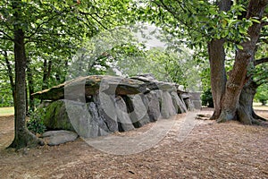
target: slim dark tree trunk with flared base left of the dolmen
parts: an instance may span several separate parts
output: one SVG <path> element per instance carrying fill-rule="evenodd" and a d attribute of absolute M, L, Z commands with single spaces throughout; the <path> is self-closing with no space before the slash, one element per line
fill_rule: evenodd
<path fill-rule="evenodd" d="M 10 145 L 12 148 L 21 149 L 38 145 L 41 141 L 29 132 L 26 127 L 26 54 L 24 32 L 20 27 L 21 2 L 13 2 L 14 18 L 18 24 L 14 25 L 14 55 L 15 55 L 15 138 Z"/>

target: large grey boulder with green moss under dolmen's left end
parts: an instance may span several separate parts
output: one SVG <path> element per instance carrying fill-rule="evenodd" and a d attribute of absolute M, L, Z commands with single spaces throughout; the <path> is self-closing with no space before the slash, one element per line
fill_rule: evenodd
<path fill-rule="evenodd" d="M 97 114 L 96 105 L 61 99 L 45 108 L 44 124 L 50 130 L 68 130 L 82 137 L 96 137 L 109 132 Z"/>

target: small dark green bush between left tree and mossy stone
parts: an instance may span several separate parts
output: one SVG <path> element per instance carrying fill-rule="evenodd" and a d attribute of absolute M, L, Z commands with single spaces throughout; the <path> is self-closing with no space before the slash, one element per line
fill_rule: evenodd
<path fill-rule="evenodd" d="M 45 109 L 39 109 L 35 112 L 30 112 L 29 121 L 27 122 L 27 127 L 30 132 L 33 132 L 35 134 L 42 134 L 46 132 L 46 126 L 43 122 L 45 115 Z"/>

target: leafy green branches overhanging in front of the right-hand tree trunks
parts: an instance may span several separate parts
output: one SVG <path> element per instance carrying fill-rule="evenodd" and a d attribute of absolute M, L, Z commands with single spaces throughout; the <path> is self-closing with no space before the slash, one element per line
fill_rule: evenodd
<path fill-rule="evenodd" d="M 256 21 L 238 18 L 246 5 L 237 3 L 222 12 L 210 1 L 143 1 L 138 6 L 138 14 L 143 14 L 138 20 L 154 23 L 188 47 L 204 47 L 211 39 L 226 38 L 239 49 L 238 44 L 247 39 L 247 29 Z"/>

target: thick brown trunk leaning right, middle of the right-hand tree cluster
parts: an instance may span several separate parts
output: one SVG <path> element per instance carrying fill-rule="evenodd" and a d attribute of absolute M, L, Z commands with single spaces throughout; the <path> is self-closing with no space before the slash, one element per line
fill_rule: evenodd
<path fill-rule="evenodd" d="M 247 8 L 247 19 L 250 17 L 262 19 L 267 4 L 267 0 L 251 0 Z M 249 64 L 253 64 L 256 42 L 260 31 L 261 24 L 255 22 L 248 30 L 250 40 L 240 44 L 243 49 L 237 51 L 233 69 L 226 83 L 225 93 L 222 98 L 222 113 L 218 122 L 238 119 L 244 124 L 252 124 L 252 117 L 239 104 L 239 97 L 244 84 L 247 83 L 247 68 Z"/>

